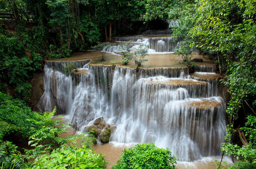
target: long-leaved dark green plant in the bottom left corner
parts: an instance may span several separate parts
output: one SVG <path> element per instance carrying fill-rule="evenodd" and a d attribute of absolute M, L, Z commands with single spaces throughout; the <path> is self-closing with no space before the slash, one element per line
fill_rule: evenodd
<path fill-rule="evenodd" d="M 0 168 L 1 169 L 20 169 L 24 163 L 24 157 L 10 141 L 0 144 Z"/>

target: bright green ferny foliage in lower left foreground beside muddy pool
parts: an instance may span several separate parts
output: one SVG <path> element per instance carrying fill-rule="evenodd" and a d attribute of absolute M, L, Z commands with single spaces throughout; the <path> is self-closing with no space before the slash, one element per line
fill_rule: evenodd
<path fill-rule="evenodd" d="M 26 158 L 35 158 L 34 161 L 28 163 L 27 169 L 48 169 L 48 168 L 105 168 L 106 162 L 104 156 L 96 154 L 89 148 L 94 140 L 92 136 L 85 137 L 85 134 L 71 135 L 61 137 L 60 135 L 68 132 L 67 129 L 72 124 L 60 124 L 59 118 L 53 119 L 56 107 L 52 112 L 45 112 L 43 115 L 37 112 L 35 124 L 41 126 L 40 129 L 34 130 L 29 139 L 29 145 L 34 149 L 26 151 Z M 77 140 L 82 147 L 77 147 Z M 75 146 L 73 146 L 75 145 Z"/>

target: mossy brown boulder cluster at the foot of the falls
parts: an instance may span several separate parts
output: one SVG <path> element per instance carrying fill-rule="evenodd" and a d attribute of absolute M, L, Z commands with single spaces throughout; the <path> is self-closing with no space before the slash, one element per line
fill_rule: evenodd
<path fill-rule="evenodd" d="M 111 133 L 114 132 L 115 129 L 115 125 L 107 124 L 103 117 L 100 117 L 94 121 L 93 125 L 89 126 L 88 131 L 93 134 L 96 139 L 99 137 L 100 141 L 104 144 L 110 141 Z M 94 142 L 94 144 L 96 143 Z"/>

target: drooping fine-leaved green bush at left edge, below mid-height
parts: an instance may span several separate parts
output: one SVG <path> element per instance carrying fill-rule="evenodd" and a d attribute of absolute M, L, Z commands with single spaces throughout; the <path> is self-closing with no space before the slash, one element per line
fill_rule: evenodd
<path fill-rule="evenodd" d="M 35 116 L 24 101 L 12 99 L 0 92 L 0 141 L 12 134 L 28 137 L 31 128 L 35 127 L 28 119 L 35 119 Z"/>

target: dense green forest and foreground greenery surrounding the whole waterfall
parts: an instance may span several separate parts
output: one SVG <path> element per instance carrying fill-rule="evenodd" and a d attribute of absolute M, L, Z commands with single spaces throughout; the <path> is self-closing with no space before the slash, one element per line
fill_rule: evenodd
<path fill-rule="evenodd" d="M 90 148 L 94 133 L 60 137 L 72 124 L 52 120 L 56 109 L 32 111 L 30 81 L 47 59 L 86 52 L 114 36 L 166 29 L 168 19 L 179 25 L 172 37 L 183 42 L 175 53 L 191 66 L 189 55 L 199 50 L 224 75 L 230 97 L 222 157 L 239 159 L 230 168 L 256 168 L 255 0 L 1 0 L 0 13 L 12 14 L 0 17 L 1 169 L 105 168 L 104 156 Z M 148 156 L 152 161 L 143 166 Z M 138 144 L 113 168 L 175 168 L 175 160 L 169 150 Z M 217 167 L 225 167 L 222 159 Z"/>

